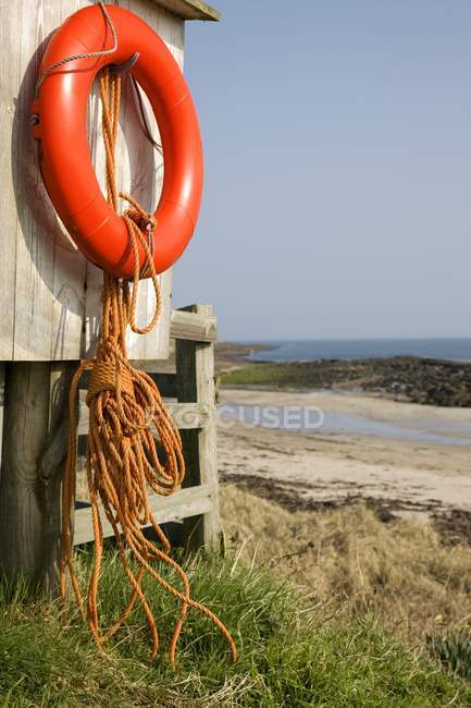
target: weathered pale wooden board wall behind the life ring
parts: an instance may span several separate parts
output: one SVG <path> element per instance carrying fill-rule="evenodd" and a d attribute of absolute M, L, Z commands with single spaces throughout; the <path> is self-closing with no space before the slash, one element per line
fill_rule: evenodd
<path fill-rule="evenodd" d="M 87 4 L 87 0 L 0 0 L 0 361 L 79 359 L 88 355 L 97 338 L 101 271 L 75 251 L 58 221 L 38 173 L 28 122 L 47 39 L 67 15 Z M 181 17 L 150 0 L 120 0 L 120 5 L 153 26 L 183 64 Z M 162 160 L 146 139 L 129 85 L 124 84 L 119 186 L 150 209 L 160 194 Z M 151 115 L 150 123 L 156 129 Z M 102 175 L 96 94 L 90 100 L 89 127 L 97 174 Z M 132 358 L 168 356 L 170 272 L 161 277 L 161 284 L 164 312 L 160 326 L 151 335 L 129 338 Z M 145 321 L 151 309 L 151 289 L 144 283 L 139 319 Z"/>

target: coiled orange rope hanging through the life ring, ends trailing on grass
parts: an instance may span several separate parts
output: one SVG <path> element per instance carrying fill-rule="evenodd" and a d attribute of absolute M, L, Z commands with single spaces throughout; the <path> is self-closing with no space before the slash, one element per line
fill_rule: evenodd
<path fill-rule="evenodd" d="M 107 152 L 108 200 L 116 210 L 114 151 L 120 112 L 120 76 L 110 75 L 108 70 L 103 72 L 100 76 L 100 93 L 103 105 L 102 127 Z M 134 280 L 131 288 L 127 281 L 115 279 L 108 273 L 103 274 L 103 315 L 97 355 L 80 364 L 71 384 L 69 455 L 63 485 L 61 593 L 65 597 L 69 572 L 77 605 L 99 646 L 122 626 L 138 599 L 150 630 L 152 645 L 150 658 L 153 659 L 159 646 L 159 635 L 152 610 L 141 588 L 144 575 L 148 573 L 179 602 L 179 615 L 170 643 L 171 662 L 175 660 L 176 643 L 189 607 L 201 611 L 219 627 L 230 644 L 235 661 L 237 651 L 231 634 L 208 608 L 190 598 L 188 578 L 171 558 L 169 540 L 156 523 L 149 505 L 148 488 L 162 496 L 172 493 L 182 484 L 185 465 L 178 429 L 165 408 L 154 382 L 145 371 L 133 368 L 127 361 L 125 341 L 127 327 L 129 326 L 134 332 L 149 332 L 159 318 L 161 297 L 152 253 L 141 232 L 142 224 L 150 224 L 153 229 L 154 219 L 132 197 L 122 193 L 120 196 L 131 204 L 123 219 L 134 253 Z M 146 254 L 145 266 L 150 272 L 156 291 L 156 312 L 151 321 L 145 327 L 138 327 L 135 319 L 140 277 L 138 243 Z M 95 557 L 85 608 L 73 563 L 72 518 L 76 475 L 76 402 L 78 382 L 86 369 L 89 369 L 86 469 L 91 501 Z M 164 463 L 159 459 L 153 437 L 156 432 L 152 435 L 151 425 L 163 450 Z M 100 628 L 97 601 L 103 552 L 99 503 L 113 528 L 121 562 L 132 587 L 129 600 L 121 617 L 107 632 Z M 145 537 L 142 525 L 152 526 L 160 539 L 161 548 Z M 137 564 L 136 572 L 131 567 L 132 559 Z M 181 589 L 158 573 L 152 564 L 153 561 L 165 563 L 176 573 Z"/>

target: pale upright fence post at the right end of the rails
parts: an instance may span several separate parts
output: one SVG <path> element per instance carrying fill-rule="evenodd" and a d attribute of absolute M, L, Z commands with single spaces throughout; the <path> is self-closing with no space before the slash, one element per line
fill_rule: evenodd
<path fill-rule="evenodd" d="M 210 316 L 210 305 L 190 305 L 186 312 Z M 214 392 L 214 344 L 185 341 L 175 343 L 176 382 L 179 402 L 197 402 L 208 406 L 206 425 L 196 430 L 181 430 L 186 476 L 184 487 L 208 485 L 211 489 L 211 511 L 184 520 L 187 548 L 204 546 L 216 550 L 221 524 L 218 497 L 216 410 Z"/>

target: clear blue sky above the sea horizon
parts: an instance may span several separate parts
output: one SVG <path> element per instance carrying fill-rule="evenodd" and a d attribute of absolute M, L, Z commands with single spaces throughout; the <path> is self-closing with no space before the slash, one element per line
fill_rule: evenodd
<path fill-rule="evenodd" d="M 471 2 L 214 0 L 174 303 L 223 339 L 471 335 Z"/>

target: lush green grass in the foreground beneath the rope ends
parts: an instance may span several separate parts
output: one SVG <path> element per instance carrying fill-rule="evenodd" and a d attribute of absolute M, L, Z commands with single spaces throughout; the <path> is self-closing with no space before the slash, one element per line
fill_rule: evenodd
<path fill-rule="evenodd" d="M 83 570 L 88 557 L 83 554 Z M 187 563 L 188 566 L 188 563 Z M 28 597 L 21 583 L 0 585 L 0 706 L 329 706 L 471 705 L 471 686 L 411 654 L 373 620 L 331 619 L 309 608 L 265 570 L 233 559 L 189 563 L 194 596 L 233 632 L 240 650 L 231 662 L 224 639 L 189 613 L 176 668 L 164 648 L 175 605 L 146 590 L 162 631 L 162 651 L 148 663 L 148 636 L 136 612 L 100 655 L 73 606 Z M 127 597 L 116 557 L 107 552 L 104 622 Z"/>

